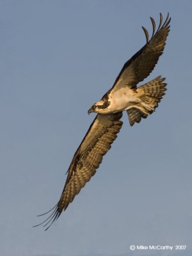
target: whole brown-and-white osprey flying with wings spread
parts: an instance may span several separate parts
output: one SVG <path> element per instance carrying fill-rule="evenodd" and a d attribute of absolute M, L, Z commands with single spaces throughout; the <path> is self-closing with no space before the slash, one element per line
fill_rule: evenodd
<path fill-rule="evenodd" d="M 129 123 L 132 126 L 135 122 L 139 123 L 141 118 L 147 118 L 152 114 L 165 94 L 165 78 L 161 76 L 137 87 L 137 84 L 152 72 L 159 56 L 163 54 L 170 31 L 169 14 L 163 23 L 163 16 L 160 13 L 157 30 L 154 19 L 150 17 L 150 20 L 152 22 L 151 38 L 149 39 L 147 29 L 142 27 L 147 43 L 125 63 L 113 87 L 88 110 L 89 114 L 95 112 L 97 116 L 74 154 L 58 204 L 49 211 L 52 211 L 52 214 L 42 222 L 45 223 L 44 227 L 49 224 L 45 230 L 58 219 L 62 211 L 67 209 L 68 204 L 95 174 L 102 162 L 102 157 L 111 148 L 111 144 L 117 137 L 116 134 L 122 127 L 123 122 L 120 121 L 122 111 L 127 111 Z M 42 215 L 44 214 L 39 216 Z"/>

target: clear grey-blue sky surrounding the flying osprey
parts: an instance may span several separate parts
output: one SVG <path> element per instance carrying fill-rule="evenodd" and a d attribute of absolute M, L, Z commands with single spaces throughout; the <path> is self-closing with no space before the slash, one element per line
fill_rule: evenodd
<path fill-rule="evenodd" d="M 60 198 L 88 109 L 159 12 L 170 12 L 171 31 L 145 80 L 166 77 L 159 108 L 133 127 L 124 113 L 96 175 L 47 232 L 32 228 Z M 191 13 L 191 1 L 0 1 L 1 255 L 191 255 Z"/>

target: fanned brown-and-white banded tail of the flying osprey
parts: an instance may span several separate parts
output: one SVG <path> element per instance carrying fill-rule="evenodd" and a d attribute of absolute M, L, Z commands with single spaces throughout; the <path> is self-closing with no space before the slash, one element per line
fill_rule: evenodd
<path fill-rule="evenodd" d="M 152 81 L 141 85 L 136 89 L 140 102 L 127 110 L 130 125 L 135 122 L 140 123 L 141 118 L 147 118 L 158 107 L 158 103 L 163 98 L 164 92 L 167 90 L 166 83 L 163 83 L 165 78 L 157 76 Z"/>

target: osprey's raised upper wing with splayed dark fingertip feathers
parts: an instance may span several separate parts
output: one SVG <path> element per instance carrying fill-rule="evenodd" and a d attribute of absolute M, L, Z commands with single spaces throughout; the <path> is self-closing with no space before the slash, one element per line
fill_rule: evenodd
<path fill-rule="evenodd" d="M 166 42 L 166 37 L 170 31 L 170 20 L 169 13 L 166 20 L 163 22 L 163 16 L 160 13 L 159 27 L 156 31 L 156 22 L 152 17 L 150 17 L 152 22 L 153 32 L 152 37 L 149 40 L 147 29 L 143 28 L 145 36 L 147 39 L 147 44 L 145 44 L 140 51 L 136 52 L 130 60 L 128 60 L 118 77 L 116 77 L 115 83 L 111 88 L 111 92 L 119 90 L 124 86 L 129 86 L 129 88 L 136 88 L 136 84 L 143 81 L 150 72 L 154 69 L 159 56 L 163 54 L 164 45 Z"/>

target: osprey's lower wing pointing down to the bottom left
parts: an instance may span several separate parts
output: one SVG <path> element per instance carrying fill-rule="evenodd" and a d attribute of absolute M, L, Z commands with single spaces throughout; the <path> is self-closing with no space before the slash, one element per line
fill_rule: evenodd
<path fill-rule="evenodd" d="M 113 115 L 98 114 L 95 120 L 93 120 L 68 168 L 68 176 L 60 201 L 51 209 L 52 214 L 47 220 L 42 222 L 45 223 L 44 227 L 58 219 L 61 212 L 67 209 L 68 204 L 74 200 L 74 197 L 84 187 L 86 182 L 95 174 L 96 169 L 102 162 L 102 156 L 111 148 L 111 143 L 116 139 L 116 134 L 122 127 L 123 122 L 120 121 L 120 118 L 122 118 L 122 112 Z"/>

